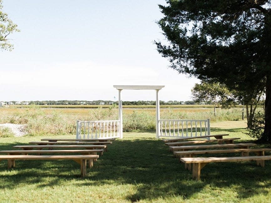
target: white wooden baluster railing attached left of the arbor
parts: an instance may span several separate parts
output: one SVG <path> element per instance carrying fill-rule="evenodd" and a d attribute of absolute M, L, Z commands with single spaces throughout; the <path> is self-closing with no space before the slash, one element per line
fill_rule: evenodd
<path fill-rule="evenodd" d="M 119 120 L 77 120 L 76 139 L 119 138 Z"/>

